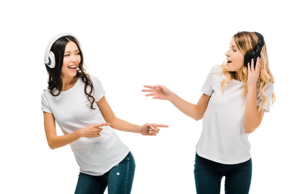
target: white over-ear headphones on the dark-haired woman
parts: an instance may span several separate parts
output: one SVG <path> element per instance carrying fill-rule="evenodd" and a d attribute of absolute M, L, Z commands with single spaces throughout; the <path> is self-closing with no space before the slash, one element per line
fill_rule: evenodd
<path fill-rule="evenodd" d="M 46 52 L 45 52 L 45 64 L 48 65 L 50 68 L 54 68 L 55 67 L 55 55 L 54 53 L 51 51 L 51 48 L 52 48 L 52 45 L 55 43 L 55 41 L 57 41 L 59 38 L 63 37 L 63 36 L 67 36 L 67 35 L 70 35 L 70 36 L 73 36 L 79 46 L 80 46 L 80 42 L 79 40 L 77 39 L 77 37 L 71 33 L 59 33 L 57 35 L 55 35 L 49 42 L 48 46 L 47 46 L 47 49 L 46 49 Z M 80 46 L 81 47 L 81 46 Z M 80 48 L 81 49 L 81 48 Z"/>

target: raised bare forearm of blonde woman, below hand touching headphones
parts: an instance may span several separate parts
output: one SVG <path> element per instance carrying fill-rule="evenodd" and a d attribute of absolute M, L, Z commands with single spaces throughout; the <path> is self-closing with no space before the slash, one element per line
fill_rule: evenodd
<path fill-rule="evenodd" d="M 244 129 L 251 133 L 259 126 L 259 118 L 256 105 L 256 87 L 248 88 L 244 113 Z"/>

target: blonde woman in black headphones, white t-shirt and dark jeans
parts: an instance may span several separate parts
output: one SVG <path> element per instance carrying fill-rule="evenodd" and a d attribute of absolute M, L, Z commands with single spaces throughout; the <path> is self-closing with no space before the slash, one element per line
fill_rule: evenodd
<path fill-rule="evenodd" d="M 146 96 L 169 100 L 196 121 L 203 118 L 196 146 L 194 176 L 197 194 L 248 194 L 252 158 L 248 135 L 258 128 L 274 103 L 274 77 L 266 44 L 258 32 L 237 32 L 225 53 L 227 62 L 207 76 L 197 104 L 186 102 L 163 85 L 144 87 Z"/>

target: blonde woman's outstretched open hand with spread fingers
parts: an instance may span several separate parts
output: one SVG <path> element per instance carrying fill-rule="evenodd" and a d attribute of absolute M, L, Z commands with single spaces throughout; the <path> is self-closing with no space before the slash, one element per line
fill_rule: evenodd
<path fill-rule="evenodd" d="M 167 87 L 164 85 L 144 85 L 144 87 L 149 89 L 143 89 L 142 92 L 151 92 L 146 94 L 146 97 L 154 96 L 153 99 L 162 99 L 162 100 L 169 100 L 171 95 L 173 94 Z"/>

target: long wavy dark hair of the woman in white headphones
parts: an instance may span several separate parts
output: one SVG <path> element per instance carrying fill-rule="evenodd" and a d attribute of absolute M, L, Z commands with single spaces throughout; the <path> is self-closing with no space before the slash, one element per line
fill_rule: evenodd
<path fill-rule="evenodd" d="M 81 51 L 80 45 L 78 44 L 77 40 L 71 35 L 60 37 L 52 45 L 51 51 L 55 54 L 55 67 L 50 68 L 48 65 L 46 65 L 46 69 L 49 76 L 48 89 L 51 90 L 51 94 L 54 97 L 59 96 L 61 94 L 61 89 L 63 86 L 63 81 L 61 79 L 61 71 L 62 71 L 62 66 L 63 66 L 64 52 L 65 52 L 65 47 L 67 43 L 70 41 L 74 42 L 77 45 L 80 52 L 81 60 L 78 66 L 79 69 L 77 70 L 76 76 L 78 78 L 82 78 L 82 81 L 85 82 L 84 93 L 87 95 L 87 98 L 89 102 L 91 103 L 91 109 L 95 109 L 93 108 L 95 98 L 92 96 L 92 92 L 94 93 L 94 88 L 90 80 L 89 74 L 86 73 L 86 70 L 84 69 L 85 65 L 83 63 L 83 53 Z M 90 87 L 89 92 L 87 92 L 88 86 Z M 57 94 L 54 94 L 53 92 L 54 89 L 58 91 Z"/>

